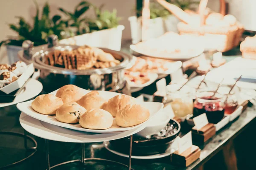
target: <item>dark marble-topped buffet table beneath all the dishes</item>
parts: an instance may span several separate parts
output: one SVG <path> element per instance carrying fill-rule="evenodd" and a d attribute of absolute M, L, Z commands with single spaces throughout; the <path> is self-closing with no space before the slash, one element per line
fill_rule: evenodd
<path fill-rule="evenodd" d="M 128 43 L 124 43 L 124 46 L 122 48 L 123 51 L 128 52 Z M 224 57 L 227 59 L 227 61 L 230 61 L 231 59 L 234 59 L 236 57 L 240 57 L 240 55 L 233 55 L 233 56 L 227 56 Z M 191 71 L 187 71 L 187 74 L 189 74 Z M 168 76 L 169 78 L 169 76 Z M 168 81 L 167 78 L 167 81 Z M 155 89 L 155 83 L 148 86 L 146 90 L 138 91 L 133 94 L 134 97 L 137 97 L 139 94 L 143 93 L 145 94 L 145 91 L 148 91 L 150 89 L 149 93 L 152 95 L 156 89 Z M 19 117 L 20 117 L 20 111 L 17 110 L 15 105 L 3 107 L 0 108 L 0 129 L 2 131 L 12 131 L 12 132 L 20 132 L 23 133 L 23 128 L 20 126 L 19 123 Z M 223 129 L 219 130 L 216 135 L 209 140 L 205 145 L 201 145 L 201 156 L 200 159 L 192 163 L 189 167 L 183 168 L 183 167 L 177 167 L 170 163 L 170 156 L 161 158 L 161 159 L 149 159 L 149 160 L 141 160 L 141 159 L 132 159 L 131 161 L 131 167 L 135 170 L 192 170 L 192 169 L 199 169 L 202 168 L 202 165 L 204 165 L 207 161 L 209 161 L 213 156 L 215 156 L 217 153 L 219 153 L 221 150 L 226 150 L 224 153 L 229 153 L 225 155 L 226 157 L 229 157 L 231 159 L 236 159 L 236 156 L 233 154 L 232 148 L 230 149 L 230 146 L 233 145 L 233 139 L 235 139 L 237 136 L 239 136 L 240 133 L 244 132 L 248 127 L 251 127 L 255 124 L 256 118 L 256 108 L 254 106 L 248 107 L 242 114 L 239 116 L 239 118 L 235 119 L 232 123 L 229 123 L 227 126 L 225 126 Z M 7 123 L 8 122 L 8 123 Z M 180 137 L 186 134 L 190 129 L 182 128 Z M 11 170 L 20 170 L 20 169 L 38 169 L 38 170 L 44 170 L 46 169 L 46 159 L 45 159 L 45 146 L 44 146 L 44 139 L 38 138 L 36 136 L 33 136 L 35 140 L 38 143 L 38 151 L 29 158 L 28 160 L 22 162 L 18 166 L 13 166 L 10 169 Z M 12 142 L 13 140 L 17 141 L 15 144 L 10 146 L 9 142 Z M 5 153 L 4 156 L 2 156 L 0 159 L 1 164 L 0 167 L 2 167 L 6 162 L 8 161 L 12 162 L 10 158 L 12 159 L 22 159 L 22 157 L 27 156 L 29 154 L 29 150 L 25 150 L 23 148 L 23 138 L 19 137 L 13 137 L 12 139 L 5 139 L 5 137 L 1 137 L 1 153 Z M 246 140 L 246 139 L 244 139 Z M 30 141 L 28 145 L 33 146 L 32 142 Z M 50 147 L 50 165 L 59 164 L 64 161 L 69 161 L 71 159 L 80 159 L 81 155 L 81 144 L 75 144 L 75 143 L 63 143 L 63 142 L 54 142 L 49 141 L 49 147 Z M 129 147 L 129 146 L 124 146 Z M 8 152 L 8 150 L 15 150 L 15 148 L 20 148 L 20 154 L 15 158 L 13 158 L 13 155 L 15 152 Z M 227 151 L 228 150 L 228 151 Z M 231 151 L 230 151 L 231 150 Z M 16 154 L 15 154 L 16 155 Z M 90 143 L 85 144 L 85 158 L 102 158 L 102 159 L 109 159 L 113 161 L 118 161 L 123 164 L 128 164 L 128 158 L 124 158 L 121 156 L 117 156 L 111 152 L 109 152 L 107 149 L 105 149 L 102 142 L 98 143 Z M 236 160 L 235 160 L 236 161 Z M 225 160 L 227 166 L 229 160 Z M 75 164 L 75 163 L 74 163 Z M 234 161 L 231 164 L 236 164 Z M 85 167 L 88 169 L 95 169 L 95 166 L 97 166 L 98 169 L 100 169 L 102 166 L 106 167 L 105 163 L 100 162 L 90 162 L 86 164 Z M 128 169 L 126 167 L 118 167 L 116 164 L 108 164 L 106 169 Z M 72 164 L 64 165 L 65 168 L 68 169 L 68 167 L 71 167 Z M 64 166 L 56 167 L 55 169 L 61 169 L 64 168 Z M 65 169 L 64 168 L 64 169 Z M 102 167 L 103 168 L 103 167 Z"/>

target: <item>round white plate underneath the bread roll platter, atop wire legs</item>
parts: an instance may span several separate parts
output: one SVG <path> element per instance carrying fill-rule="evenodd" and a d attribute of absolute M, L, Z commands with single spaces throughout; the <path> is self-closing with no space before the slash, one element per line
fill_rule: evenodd
<path fill-rule="evenodd" d="M 90 133 L 55 126 L 46 122 L 42 122 L 38 119 L 32 118 L 26 115 L 25 113 L 20 114 L 20 125 L 27 132 L 40 138 L 52 141 L 73 143 L 92 143 L 121 139 L 139 132 L 146 126 L 142 125 L 133 130 L 128 130 L 119 133 Z"/>

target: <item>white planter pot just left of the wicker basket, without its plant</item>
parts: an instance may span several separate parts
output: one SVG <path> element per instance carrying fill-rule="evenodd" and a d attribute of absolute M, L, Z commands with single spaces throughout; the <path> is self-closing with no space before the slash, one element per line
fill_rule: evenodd
<path fill-rule="evenodd" d="M 131 39 L 132 43 L 136 44 L 141 41 L 141 29 L 142 29 L 142 18 L 137 18 L 136 16 L 129 17 L 131 26 Z M 178 32 L 177 23 L 179 20 L 174 15 L 169 15 L 166 18 L 157 17 L 150 19 L 149 31 L 150 38 L 157 38 L 168 31 Z"/>

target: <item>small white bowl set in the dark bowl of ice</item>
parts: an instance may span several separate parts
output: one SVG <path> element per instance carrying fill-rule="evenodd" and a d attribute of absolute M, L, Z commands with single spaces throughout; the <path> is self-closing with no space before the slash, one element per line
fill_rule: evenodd
<path fill-rule="evenodd" d="M 169 123 L 171 117 L 164 113 L 162 110 L 155 116 L 154 119 L 148 122 L 147 127 L 136 133 L 139 136 L 151 136 L 160 132 Z"/>

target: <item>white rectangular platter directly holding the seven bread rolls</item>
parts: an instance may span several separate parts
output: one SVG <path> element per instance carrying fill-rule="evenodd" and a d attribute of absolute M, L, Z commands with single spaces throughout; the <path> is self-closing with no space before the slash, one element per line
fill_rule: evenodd
<path fill-rule="evenodd" d="M 82 89 L 82 90 L 84 91 L 84 94 L 87 94 L 87 93 L 90 92 L 90 91 L 87 91 L 85 89 Z M 57 91 L 58 90 L 53 91 L 49 94 L 55 95 L 57 93 Z M 105 99 L 110 99 L 110 98 L 112 98 L 116 95 L 119 95 L 119 93 L 109 92 L 109 91 L 98 91 L 98 92 Z M 157 114 L 157 112 L 160 111 L 160 109 L 163 108 L 163 103 L 141 102 L 138 99 L 135 99 L 135 100 L 137 100 L 138 104 L 144 106 L 145 108 L 148 108 L 148 110 L 150 112 L 150 116 L 149 116 L 148 120 L 152 119 Z M 55 115 L 44 115 L 44 114 L 40 114 L 40 113 L 34 111 L 31 107 L 31 103 L 33 101 L 34 100 L 18 103 L 17 108 L 20 111 L 22 111 L 23 113 L 25 113 L 25 114 L 27 114 L 27 115 L 35 118 L 35 119 L 41 120 L 43 122 L 50 123 L 52 125 L 56 125 L 56 126 L 60 126 L 60 127 L 66 127 L 66 128 L 73 129 L 73 130 L 79 130 L 79 131 L 84 131 L 84 132 L 92 132 L 92 133 L 115 133 L 115 132 L 122 132 L 122 131 L 132 130 L 132 129 L 140 127 L 141 125 L 144 125 L 145 123 L 148 122 L 148 120 L 147 120 L 147 121 L 141 123 L 140 125 L 136 125 L 136 126 L 132 126 L 132 127 L 113 127 L 112 126 L 109 129 L 104 129 L 104 130 L 86 129 L 86 128 L 81 127 L 79 124 L 68 124 L 68 123 L 59 122 L 56 119 Z M 114 122 L 115 122 L 115 120 L 114 120 Z M 113 124 L 114 124 L 114 122 L 113 122 Z"/>

